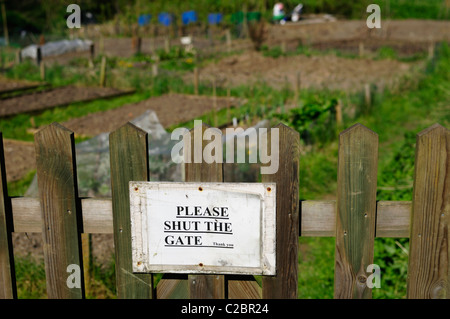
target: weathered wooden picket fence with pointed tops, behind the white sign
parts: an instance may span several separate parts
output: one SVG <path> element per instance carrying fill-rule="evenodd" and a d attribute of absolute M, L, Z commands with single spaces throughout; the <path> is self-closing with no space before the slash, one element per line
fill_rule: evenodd
<path fill-rule="evenodd" d="M 378 135 L 356 124 L 339 136 L 336 201 L 299 201 L 299 134 L 279 128 L 277 275 L 133 274 L 129 181 L 149 180 L 147 133 L 128 123 L 110 134 L 111 199 L 79 198 L 74 134 L 54 123 L 35 135 L 39 198 L 10 198 L 0 135 L 0 297 L 15 298 L 11 234 L 41 232 L 49 298 L 84 298 L 67 285 L 80 265 L 82 234 L 113 233 L 119 298 L 297 298 L 298 237 L 335 236 L 335 298 L 371 298 L 366 269 L 375 237 L 409 237 L 408 298 L 450 297 L 450 132 L 435 124 L 417 135 L 412 202 L 377 201 Z M 203 128 L 205 129 L 205 127 Z M 191 152 L 193 155 L 193 152 Z M 220 163 L 185 166 L 185 180 L 222 182 Z M 301 287 L 300 287 L 301 289 Z"/>

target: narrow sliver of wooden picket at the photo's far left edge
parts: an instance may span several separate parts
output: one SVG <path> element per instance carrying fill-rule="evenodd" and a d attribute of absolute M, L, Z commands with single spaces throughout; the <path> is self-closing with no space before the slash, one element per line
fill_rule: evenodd
<path fill-rule="evenodd" d="M 12 210 L 6 183 L 3 137 L 0 133 L 0 299 L 17 298 L 11 231 Z"/>

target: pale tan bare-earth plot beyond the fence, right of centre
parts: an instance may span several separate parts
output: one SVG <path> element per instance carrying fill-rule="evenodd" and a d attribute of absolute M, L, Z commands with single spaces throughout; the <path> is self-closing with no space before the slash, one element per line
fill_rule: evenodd
<path fill-rule="evenodd" d="M 301 88 L 355 91 L 366 83 L 390 85 L 413 70 L 414 63 L 394 60 L 347 59 L 335 55 L 265 57 L 246 52 L 209 64 L 202 77 L 216 76 L 231 86 L 265 82 L 269 86 L 293 87 L 300 73 Z M 192 79 L 192 76 L 189 75 Z"/>

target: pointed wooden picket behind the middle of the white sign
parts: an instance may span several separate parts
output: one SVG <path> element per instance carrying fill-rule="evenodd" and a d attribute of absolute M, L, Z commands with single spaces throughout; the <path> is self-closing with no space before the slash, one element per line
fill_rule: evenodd
<path fill-rule="evenodd" d="M 202 158 L 203 150 L 210 141 L 203 139 L 205 130 L 209 127 L 202 124 L 201 127 L 194 127 L 189 133 L 191 136 L 191 163 L 185 163 L 185 181 L 186 182 L 223 182 L 223 166 L 222 163 L 205 162 Z M 214 129 L 215 128 L 209 128 Z M 221 132 L 220 138 L 222 137 Z M 201 144 L 196 144 L 201 139 Z M 197 147 L 195 147 L 197 145 Z M 222 141 L 220 141 L 222 145 Z M 200 147 L 201 146 L 201 147 Z M 185 144 L 185 148 L 188 147 Z M 222 147 L 220 147 L 218 155 L 221 159 Z M 202 154 L 199 154 L 199 153 Z M 200 163 L 195 163 L 195 159 L 202 159 Z M 189 296 L 192 299 L 223 299 L 225 298 L 225 277 L 223 275 L 189 275 Z"/>

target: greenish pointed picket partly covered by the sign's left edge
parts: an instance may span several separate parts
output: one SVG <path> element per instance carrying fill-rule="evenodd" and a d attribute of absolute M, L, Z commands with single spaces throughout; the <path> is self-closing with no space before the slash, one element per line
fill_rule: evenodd
<path fill-rule="evenodd" d="M 117 297 L 152 298 L 153 276 L 133 274 L 131 264 L 129 182 L 149 180 L 147 133 L 127 123 L 110 134 L 109 147 Z"/>

